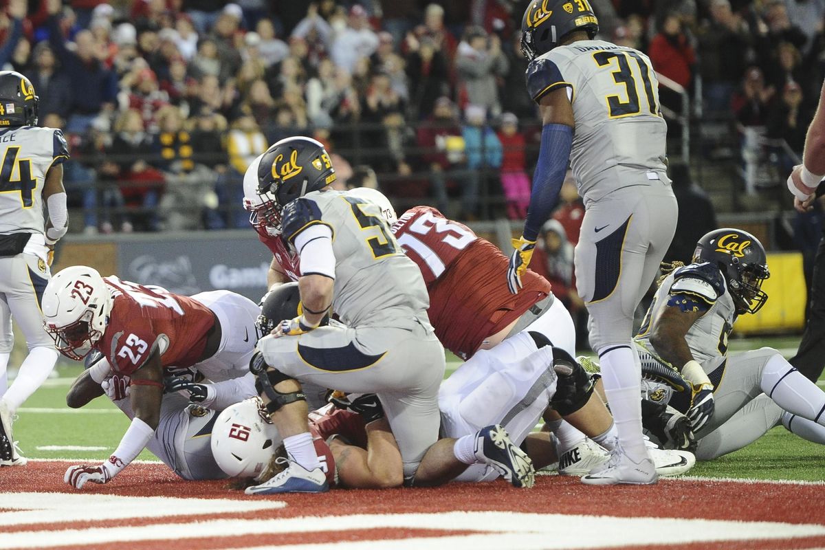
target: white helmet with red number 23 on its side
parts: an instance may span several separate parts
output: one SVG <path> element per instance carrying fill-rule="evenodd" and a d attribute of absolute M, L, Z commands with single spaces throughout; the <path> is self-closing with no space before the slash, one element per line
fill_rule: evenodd
<path fill-rule="evenodd" d="M 106 331 L 113 303 L 97 270 L 67 267 L 54 275 L 43 291 L 43 326 L 60 353 L 79 361 Z"/>

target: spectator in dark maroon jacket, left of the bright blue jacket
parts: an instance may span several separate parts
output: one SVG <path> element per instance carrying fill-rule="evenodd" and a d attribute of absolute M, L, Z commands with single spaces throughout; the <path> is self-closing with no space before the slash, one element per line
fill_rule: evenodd
<path fill-rule="evenodd" d="M 452 217 L 453 212 L 448 209 L 447 186 L 453 177 L 466 172 L 466 157 L 464 156 L 464 138 L 452 101 L 448 97 L 439 97 L 431 119 L 418 127 L 418 147 L 422 151 L 422 159 L 430 171 L 432 198 L 436 207 L 444 214 Z M 468 179 L 477 177 L 470 174 Z M 464 186 L 464 181 L 460 182 Z M 474 184 L 478 190 L 478 181 Z"/>

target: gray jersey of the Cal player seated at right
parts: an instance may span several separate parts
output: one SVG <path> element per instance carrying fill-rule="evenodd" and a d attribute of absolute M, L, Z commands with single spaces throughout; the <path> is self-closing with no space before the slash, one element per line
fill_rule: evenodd
<path fill-rule="evenodd" d="M 677 280 L 679 284 L 676 284 Z M 691 264 L 673 271 L 662 281 L 644 317 L 639 336 L 636 336 L 636 341 L 658 360 L 661 357 L 650 345 L 650 320 L 667 307 L 670 299 L 702 301 L 709 305 L 705 315 L 699 317 L 687 331 L 687 346 L 691 348 L 695 360 L 705 364 L 714 357 L 727 355 L 728 336 L 736 320 L 736 307 L 719 269 L 710 264 Z"/>

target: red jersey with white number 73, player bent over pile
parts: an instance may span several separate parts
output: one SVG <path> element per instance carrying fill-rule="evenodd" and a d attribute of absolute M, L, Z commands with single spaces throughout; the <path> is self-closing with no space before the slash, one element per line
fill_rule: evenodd
<path fill-rule="evenodd" d="M 436 336 L 464 360 L 485 338 L 550 293 L 549 282 L 527 270 L 521 278 L 524 288 L 510 294 L 507 256 L 429 206 L 409 209 L 394 223 L 393 233 L 424 275 L 430 293 L 427 313 Z"/>

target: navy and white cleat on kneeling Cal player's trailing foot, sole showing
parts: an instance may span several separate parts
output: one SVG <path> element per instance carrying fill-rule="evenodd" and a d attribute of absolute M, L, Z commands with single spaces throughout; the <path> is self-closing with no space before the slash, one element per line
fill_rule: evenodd
<path fill-rule="evenodd" d="M 533 461 L 510 440 L 500 425 L 488 425 L 475 435 L 475 457 L 499 472 L 513 487 L 533 487 Z"/>

